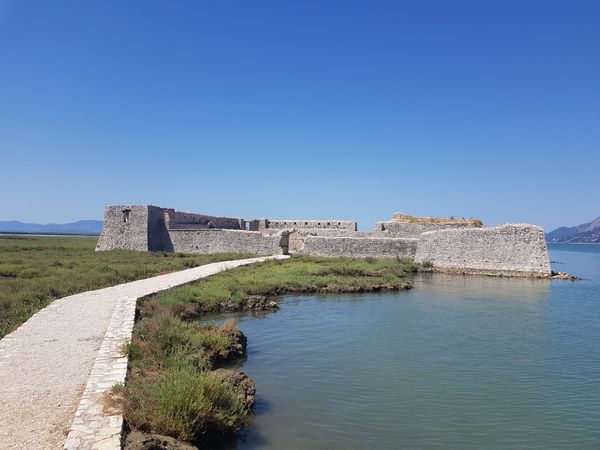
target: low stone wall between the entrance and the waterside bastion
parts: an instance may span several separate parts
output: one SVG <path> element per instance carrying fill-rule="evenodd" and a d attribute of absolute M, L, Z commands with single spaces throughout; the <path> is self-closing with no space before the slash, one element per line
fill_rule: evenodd
<path fill-rule="evenodd" d="M 413 258 L 417 239 L 352 236 L 306 236 L 300 254 L 352 258 Z"/>

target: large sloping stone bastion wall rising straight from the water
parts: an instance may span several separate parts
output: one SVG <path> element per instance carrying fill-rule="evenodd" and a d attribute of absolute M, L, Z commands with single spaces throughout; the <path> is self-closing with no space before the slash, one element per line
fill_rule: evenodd
<path fill-rule="evenodd" d="M 430 262 L 434 269 L 446 272 L 538 277 L 551 274 L 544 230 L 535 225 L 423 233 L 415 261 Z"/>

